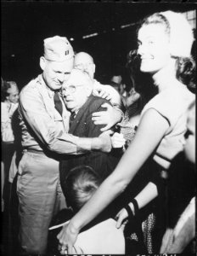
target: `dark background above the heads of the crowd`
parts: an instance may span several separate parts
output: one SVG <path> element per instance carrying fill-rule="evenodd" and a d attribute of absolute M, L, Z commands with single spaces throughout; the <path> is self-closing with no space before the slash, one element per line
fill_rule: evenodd
<path fill-rule="evenodd" d="M 96 78 L 107 82 L 136 48 L 136 28 L 145 15 L 194 9 L 192 3 L 57 3 L 2 2 L 2 77 L 19 87 L 41 73 L 42 40 L 55 35 L 74 38 L 75 51 L 87 51 L 97 65 Z M 132 24 L 121 28 L 122 25 Z M 98 32 L 98 36 L 82 36 Z"/>

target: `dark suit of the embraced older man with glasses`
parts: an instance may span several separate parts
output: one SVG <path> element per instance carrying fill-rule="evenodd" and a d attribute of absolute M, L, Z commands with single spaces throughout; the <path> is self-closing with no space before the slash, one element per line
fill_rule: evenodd
<path fill-rule="evenodd" d="M 107 100 L 98 96 L 89 96 L 87 102 L 76 113 L 75 119 L 70 118 L 70 130 L 69 133 L 77 137 L 98 137 L 102 131 L 100 129 L 104 125 L 94 125 L 92 120 L 92 113 L 98 111 L 104 111 L 101 105 Z M 60 162 L 60 182 L 64 187 L 65 177 L 70 169 L 87 165 L 92 166 L 94 171 L 99 174 L 99 177 L 103 180 L 111 172 L 114 171 L 115 166 L 120 160 L 121 155 L 115 152 L 103 153 L 98 151 L 90 151 L 87 154 L 81 155 L 67 155 L 65 160 Z M 63 189 L 64 190 L 64 189 Z"/>

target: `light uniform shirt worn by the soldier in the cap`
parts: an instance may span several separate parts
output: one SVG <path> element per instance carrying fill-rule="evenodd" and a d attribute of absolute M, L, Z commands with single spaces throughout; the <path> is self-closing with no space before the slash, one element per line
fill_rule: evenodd
<path fill-rule="evenodd" d="M 61 116 L 54 108 L 53 96 L 54 92 L 49 90 L 42 75 L 31 80 L 21 90 L 19 113 L 22 146 L 39 151 L 47 148 L 58 154 L 80 153 L 80 148 L 77 147 L 78 137 L 67 133 L 70 112 L 63 103 Z"/>

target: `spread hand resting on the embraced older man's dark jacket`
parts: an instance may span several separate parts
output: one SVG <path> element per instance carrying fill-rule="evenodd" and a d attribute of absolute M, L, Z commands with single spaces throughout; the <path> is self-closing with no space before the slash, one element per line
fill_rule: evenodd
<path fill-rule="evenodd" d="M 104 103 L 101 107 L 107 109 L 105 111 L 94 112 L 92 119 L 94 125 L 105 125 L 100 131 L 107 131 L 121 121 L 122 112 L 121 110 L 113 108 L 108 103 Z"/>

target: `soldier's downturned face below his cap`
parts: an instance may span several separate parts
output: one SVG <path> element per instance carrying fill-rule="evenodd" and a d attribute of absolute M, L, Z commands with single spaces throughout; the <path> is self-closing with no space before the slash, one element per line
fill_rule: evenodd
<path fill-rule="evenodd" d="M 67 61 L 56 62 L 45 60 L 43 79 L 51 90 L 60 90 L 62 84 L 70 77 L 73 68 L 73 58 Z"/>

